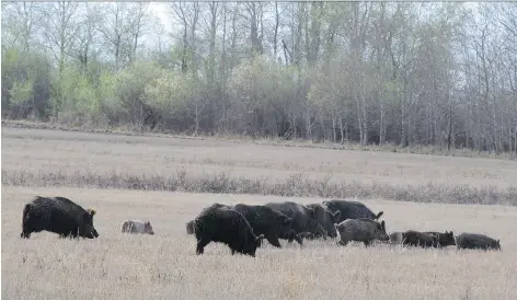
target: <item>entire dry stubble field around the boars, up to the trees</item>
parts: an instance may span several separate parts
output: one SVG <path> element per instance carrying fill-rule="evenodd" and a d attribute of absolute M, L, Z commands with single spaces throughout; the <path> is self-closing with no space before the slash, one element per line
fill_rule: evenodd
<path fill-rule="evenodd" d="M 325 176 L 335 183 L 333 188 L 318 187 Z M 388 231 L 481 232 L 501 239 L 503 251 L 383 244 L 365 249 L 358 243 L 341 247 L 328 240 L 307 241 L 301 249 L 285 241 L 283 249 L 274 249 L 266 242 L 255 258 L 232 256 L 225 245 L 211 243 L 197 256 L 194 236 L 185 233 L 185 222 L 214 201 L 315 203 L 322 198 L 180 191 L 346 194 L 340 189 L 343 183 L 348 183 L 346 189 L 356 188 L 348 196 L 371 196 L 361 201 L 374 211 L 384 211 Z M 305 184 L 312 184 L 312 189 L 303 189 Z M 112 188 L 120 186 L 165 191 Z M 1 296 L 516 299 L 516 186 L 515 161 L 2 128 Z M 375 195 L 368 189 L 375 189 Z M 418 194 L 422 189 L 449 194 L 436 199 Z M 498 205 L 439 203 L 466 203 L 462 192 L 474 203 L 485 199 Z M 37 194 L 61 195 L 96 208 L 100 238 L 71 241 L 43 232 L 21 240 L 23 205 Z M 417 201 L 401 201 L 413 196 Z M 122 234 L 119 227 L 127 218 L 149 219 L 156 234 Z"/>

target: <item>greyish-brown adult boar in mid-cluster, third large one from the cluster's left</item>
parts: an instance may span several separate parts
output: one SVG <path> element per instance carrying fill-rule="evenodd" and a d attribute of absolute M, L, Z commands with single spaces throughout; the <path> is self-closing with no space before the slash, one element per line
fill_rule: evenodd
<path fill-rule="evenodd" d="M 323 239 L 326 239 L 326 232 L 318 222 L 318 217 L 312 208 L 292 201 L 267 203 L 266 206 L 291 218 L 291 229 L 297 234 L 302 232 L 317 232 L 321 234 Z"/>

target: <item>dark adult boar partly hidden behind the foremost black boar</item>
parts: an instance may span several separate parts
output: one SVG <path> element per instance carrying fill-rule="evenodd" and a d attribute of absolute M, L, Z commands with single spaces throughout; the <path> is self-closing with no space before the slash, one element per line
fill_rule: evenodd
<path fill-rule="evenodd" d="M 241 212 L 252 227 L 253 233 L 256 235 L 264 234 L 264 238 L 276 247 L 282 247 L 278 239 L 296 240 L 300 244 L 302 243 L 301 238 L 291 229 L 292 219 L 267 206 L 245 204 L 228 206 L 216 203 L 203 211 L 212 208 L 233 209 Z M 186 223 L 186 232 L 187 234 L 194 233 L 194 221 Z"/>

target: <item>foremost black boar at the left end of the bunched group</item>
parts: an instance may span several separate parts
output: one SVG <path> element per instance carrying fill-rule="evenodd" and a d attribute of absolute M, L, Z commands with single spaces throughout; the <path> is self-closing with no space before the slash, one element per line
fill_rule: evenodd
<path fill-rule="evenodd" d="M 256 236 L 248 220 L 237 210 L 221 207 L 205 209 L 194 220 L 196 235 L 196 254 L 203 254 L 210 242 L 228 245 L 233 255 L 235 252 L 255 257 L 256 247 L 264 235 Z"/>

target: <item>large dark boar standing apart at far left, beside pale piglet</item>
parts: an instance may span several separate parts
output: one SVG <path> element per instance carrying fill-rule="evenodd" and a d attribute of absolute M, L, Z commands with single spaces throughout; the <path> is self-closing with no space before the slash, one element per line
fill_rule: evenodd
<path fill-rule="evenodd" d="M 65 197 L 35 196 L 23 209 L 20 236 L 28 239 L 31 233 L 45 230 L 61 238 L 99 238 L 93 227 L 94 215 L 95 210 L 84 209 Z"/>

